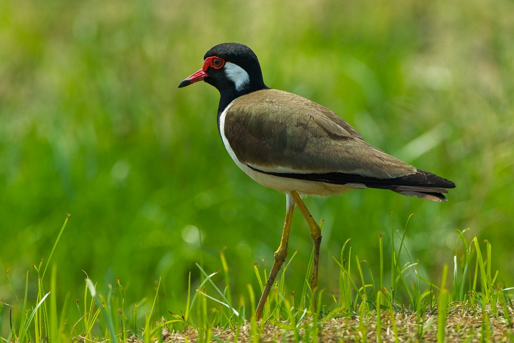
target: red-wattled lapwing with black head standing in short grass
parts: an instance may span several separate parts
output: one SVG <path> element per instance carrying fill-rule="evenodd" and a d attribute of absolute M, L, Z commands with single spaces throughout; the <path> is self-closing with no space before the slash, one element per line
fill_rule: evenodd
<path fill-rule="evenodd" d="M 353 188 L 380 188 L 443 202 L 446 188 L 455 187 L 450 180 L 416 169 L 370 145 L 331 110 L 267 87 L 259 60 L 246 45 L 214 46 L 205 54 L 201 69 L 178 87 L 202 80 L 219 91 L 219 135 L 235 164 L 261 185 L 286 194 L 282 239 L 257 306 L 257 320 L 287 255 L 295 205 L 314 240 L 311 286 L 317 311 L 321 230 L 302 195 L 328 196 Z"/>

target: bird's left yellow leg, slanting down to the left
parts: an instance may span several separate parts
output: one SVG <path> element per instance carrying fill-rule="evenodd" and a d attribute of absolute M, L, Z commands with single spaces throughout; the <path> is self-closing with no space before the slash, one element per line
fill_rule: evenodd
<path fill-rule="evenodd" d="M 275 278 L 277 274 L 279 274 L 279 270 L 284 264 L 284 261 L 287 256 L 287 244 L 289 243 L 289 231 L 291 229 L 291 219 L 292 212 L 295 209 L 295 202 L 292 201 L 292 198 L 289 194 L 286 195 L 286 218 L 284 220 L 284 229 L 282 230 L 282 238 L 280 240 L 280 246 L 275 251 L 275 260 L 273 262 L 273 266 L 271 267 L 271 272 L 269 272 L 268 281 L 266 281 L 266 285 L 264 286 L 264 292 L 262 293 L 261 300 L 259 300 L 259 304 L 257 305 L 257 310 L 255 311 L 255 317 L 257 320 L 261 319 L 262 311 L 264 310 L 264 304 L 266 303 L 266 299 L 268 298 L 269 291 L 271 291 L 271 287 L 273 286 L 273 282 L 275 282 Z"/>

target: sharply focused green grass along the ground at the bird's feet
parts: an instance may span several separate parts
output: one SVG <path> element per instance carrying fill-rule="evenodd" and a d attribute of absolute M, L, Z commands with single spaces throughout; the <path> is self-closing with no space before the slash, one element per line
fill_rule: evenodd
<path fill-rule="evenodd" d="M 318 299 L 320 313 L 312 312 L 313 299 L 308 289 L 309 273 L 305 277 L 304 291 L 301 294 L 288 294 L 284 291 L 285 275 L 289 273 L 287 267 L 296 257 L 296 254 L 292 254 L 282 271 L 280 280 L 276 282 L 276 287 L 270 293 L 262 322 L 256 323 L 255 302 L 246 303 L 241 295 L 234 294 L 230 290 L 231 272 L 223 250 L 220 253 L 224 265 L 223 273 L 218 270 L 208 274 L 200 265 L 197 265 L 203 281 L 193 285 L 189 276 L 188 295 L 182 302 L 185 310 L 180 314 L 169 313 L 167 316 L 159 317 L 156 306 L 161 298 L 160 281 L 156 286 L 153 301 L 143 299 L 127 305 L 133 299 L 126 298 L 119 280 L 116 280 L 116 287 L 109 285 L 106 295 L 102 295 L 97 292 L 97 284 L 87 276 L 83 297 L 76 300 L 77 312 L 66 313 L 67 306 L 58 306 L 56 302 L 56 267 L 52 268 L 50 281 L 44 276 L 67 222 L 68 218 L 53 245 L 43 273 L 40 273 L 43 261 L 39 266 L 33 265 L 34 272 L 27 273 L 23 300 L 16 294 L 13 286 L 12 292 L 16 302 L 1 303 L 0 318 L 5 317 L 3 312 L 8 313 L 9 318 L 8 329 L 5 332 L 2 329 L 0 332 L 0 337 L 5 341 L 21 343 L 76 339 L 126 341 L 130 338 L 149 342 L 178 336 L 198 341 L 237 341 L 238 338 L 251 341 L 270 338 L 317 341 L 323 337 L 327 338 L 326 335 L 335 339 L 357 341 L 368 339 L 423 341 L 434 339 L 434 336 L 438 342 L 455 338 L 473 341 L 479 338 L 479 331 L 473 333 L 469 330 L 461 330 L 459 325 L 473 326 L 474 315 L 481 318 L 480 334 L 486 340 L 514 337 L 512 327 L 514 323 L 511 320 L 511 314 L 514 311 L 510 293 L 512 289 L 506 288 L 499 281 L 498 272 L 492 273 L 494 270 L 491 266 L 492 247 L 489 242 L 484 241 L 480 244 L 476 237 L 468 242 L 464 236 L 464 232 L 468 230 L 457 230 L 453 267 L 454 275 L 459 276 L 455 277 L 455 280 L 462 281 L 454 281 L 450 287 L 447 286 L 447 265 L 443 267 L 439 286 L 435 286 L 435 282 L 430 282 L 420 275 L 418 263 L 413 263 L 410 259 L 405 263 L 398 262 L 401 250 L 404 250 L 406 255 L 410 255 L 407 251 L 408 247 L 404 244 L 407 227 L 403 232 L 391 231 L 393 251 L 391 258 L 395 263 L 392 264 L 391 270 L 383 267 L 379 270 L 381 275 L 392 275 L 391 284 L 387 286 L 381 285 L 381 278 L 374 278 L 371 268 L 369 268 L 369 275 L 364 276 L 362 265 L 368 262 L 360 261 L 358 255 L 352 252 L 351 246 L 346 242 L 347 244 L 341 250 L 341 260 L 338 262 L 339 294 L 333 293 L 332 301 L 325 301 L 321 295 L 326 290 L 322 290 Z M 381 244 L 382 237 L 378 239 Z M 398 240 L 399 245 L 395 248 L 395 241 L 398 242 Z M 380 260 L 389 258 L 382 256 L 383 247 L 380 251 Z M 462 255 L 462 258 L 457 260 L 457 255 Z M 262 272 L 255 268 L 256 278 L 260 279 L 261 288 Z M 12 281 L 9 275 L 8 278 Z M 378 280 L 378 283 L 375 280 Z M 28 289 L 34 286 L 37 289 L 37 295 L 32 298 L 28 296 Z M 253 299 L 255 292 L 250 284 L 248 284 L 248 291 L 250 298 Z M 407 294 L 409 301 L 398 302 L 393 294 L 396 296 Z M 237 303 L 232 301 L 233 298 L 239 299 Z M 68 299 L 69 291 L 65 302 Z M 145 306 L 144 313 L 140 312 L 142 305 Z M 459 314 L 460 323 L 455 324 L 449 320 L 451 318 L 449 314 L 456 312 L 456 308 L 461 312 L 471 311 L 474 315 L 463 317 Z M 403 319 L 402 316 L 414 316 L 417 330 L 405 324 L 400 324 L 398 328 L 396 320 Z M 348 325 L 348 319 L 354 322 L 353 326 Z M 494 328 L 491 324 L 492 319 L 495 320 Z M 334 320 L 340 323 L 341 330 L 346 325 L 344 333 L 331 333 L 325 330 L 327 323 Z M 500 330 L 498 323 L 504 324 Z M 383 327 L 391 329 L 390 337 L 386 336 Z M 452 335 L 452 338 L 448 338 L 448 334 Z"/>

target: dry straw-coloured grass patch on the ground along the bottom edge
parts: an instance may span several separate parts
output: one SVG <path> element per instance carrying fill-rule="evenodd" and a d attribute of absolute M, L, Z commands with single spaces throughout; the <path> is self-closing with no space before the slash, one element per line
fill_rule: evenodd
<path fill-rule="evenodd" d="M 514 311 L 509 309 L 510 318 Z M 384 312 L 381 316 L 380 333 L 381 340 L 377 336 L 376 312 L 371 312 L 361 321 L 359 316 L 338 317 L 320 321 L 318 334 L 319 341 L 322 342 L 412 342 L 437 341 L 437 312 L 426 313 L 420 318 L 414 312 L 402 311 L 394 313 L 394 321 L 390 312 Z M 478 308 L 471 308 L 462 304 L 456 304 L 450 308 L 446 320 L 446 340 L 448 342 L 467 341 L 467 342 L 510 342 L 514 340 L 513 323 L 508 322 L 501 309 L 498 315 L 493 315 L 490 309 L 484 313 Z M 393 322 L 396 324 L 396 334 Z M 313 337 L 305 337 L 304 327 L 311 327 L 313 322 L 310 319 L 304 320 L 300 324 L 299 334 L 301 341 L 313 341 Z M 295 341 L 292 331 L 283 329 L 280 325 L 266 324 L 261 328 L 262 332 L 259 341 Z M 308 330 L 311 332 L 311 330 Z M 251 332 L 251 324 L 246 324 L 236 333 L 232 330 L 212 329 L 209 333 L 210 341 L 237 341 L 251 342 L 254 336 Z M 235 337 L 237 335 L 237 339 Z M 186 341 L 205 341 L 206 335 L 199 336 L 197 330 L 185 332 L 164 332 L 163 340 L 166 342 L 186 342 Z M 137 342 L 137 341 L 135 341 Z M 140 341 L 139 341 L 140 342 Z"/>

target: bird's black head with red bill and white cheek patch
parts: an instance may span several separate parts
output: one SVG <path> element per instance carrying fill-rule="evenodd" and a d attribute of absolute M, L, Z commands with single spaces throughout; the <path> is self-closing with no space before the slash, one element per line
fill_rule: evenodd
<path fill-rule="evenodd" d="M 212 47 L 204 56 L 203 67 L 180 82 L 178 87 L 202 80 L 218 89 L 221 108 L 238 96 L 268 88 L 264 84 L 257 56 L 252 49 L 239 43 L 222 43 Z"/>

